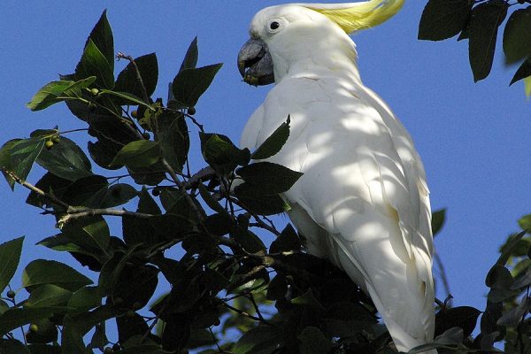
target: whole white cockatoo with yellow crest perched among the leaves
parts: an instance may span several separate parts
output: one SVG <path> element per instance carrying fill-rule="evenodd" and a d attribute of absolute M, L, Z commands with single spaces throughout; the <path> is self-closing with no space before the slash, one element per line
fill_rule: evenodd
<path fill-rule="evenodd" d="M 349 37 L 403 4 L 268 7 L 252 19 L 238 66 L 250 84 L 275 83 L 245 126 L 242 147 L 257 148 L 291 117 L 288 142 L 267 158 L 304 173 L 283 194 L 289 218 L 310 253 L 371 296 L 396 348 L 407 351 L 434 335 L 426 177 L 410 135 L 360 80 Z"/>

